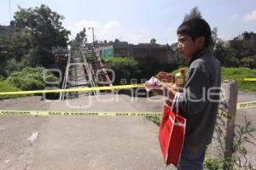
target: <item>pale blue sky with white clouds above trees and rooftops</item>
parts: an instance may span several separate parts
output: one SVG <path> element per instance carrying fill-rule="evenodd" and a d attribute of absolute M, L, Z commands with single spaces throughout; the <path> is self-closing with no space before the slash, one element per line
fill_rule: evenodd
<path fill-rule="evenodd" d="M 12 16 L 18 5 L 34 8 L 44 3 L 65 16 L 63 25 L 73 36 L 83 27 L 93 26 L 98 40 L 119 38 L 137 43 L 149 42 L 154 37 L 159 43 L 176 42 L 177 26 L 195 6 L 211 27 L 218 27 L 218 36 L 224 40 L 243 31 L 256 32 L 256 0 L 10 0 L 10 3 Z M 9 0 L 1 0 L 0 15 L 0 24 L 9 25 Z M 91 41 L 91 31 L 87 34 Z"/>

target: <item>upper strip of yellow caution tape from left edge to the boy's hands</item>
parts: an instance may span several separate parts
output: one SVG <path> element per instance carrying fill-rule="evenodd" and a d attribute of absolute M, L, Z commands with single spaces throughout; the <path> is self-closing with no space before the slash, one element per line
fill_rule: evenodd
<path fill-rule="evenodd" d="M 1 92 L 0 95 L 49 94 L 49 93 L 61 93 L 61 92 L 85 92 L 85 91 L 112 90 L 112 89 L 125 89 L 125 88 L 144 88 L 144 84 L 104 86 L 104 87 L 96 87 L 96 88 L 68 88 L 68 89 L 33 90 L 33 91 L 20 91 L 20 92 Z"/>

